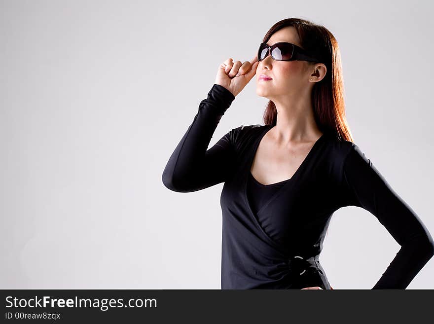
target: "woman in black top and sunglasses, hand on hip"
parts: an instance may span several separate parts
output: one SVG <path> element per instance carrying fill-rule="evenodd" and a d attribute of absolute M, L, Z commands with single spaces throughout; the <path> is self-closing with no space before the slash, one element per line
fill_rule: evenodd
<path fill-rule="evenodd" d="M 265 125 L 232 129 L 208 149 L 254 75 L 270 99 Z M 222 289 L 330 289 L 319 255 L 345 206 L 372 213 L 401 246 L 372 289 L 405 289 L 434 253 L 425 225 L 352 141 L 336 39 L 303 19 L 276 23 L 251 62 L 220 65 L 162 180 L 178 192 L 224 182 Z"/>

